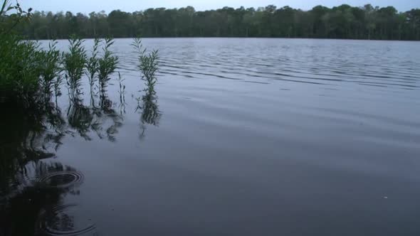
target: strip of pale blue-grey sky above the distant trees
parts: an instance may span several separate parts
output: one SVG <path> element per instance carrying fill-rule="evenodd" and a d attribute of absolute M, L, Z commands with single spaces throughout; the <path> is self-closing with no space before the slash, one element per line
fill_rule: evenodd
<path fill-rule="evenodd" d="M 88 14 L 92 11 L 112 10 L 140 11 L 148 8 L 164 7 L 167 9 L 182 6 L 194 6 L 196 10 L 219 9 L 224 6 L 238 8 L 240 6 L 258 7 L 274 4 L 275 6 L 291 6 L 293 8 L 309 10 L 313 6 L 394 6 L 398 11 L 408 11 L 420 8 L 420 0 L 20 0 L 25 8 L 32 7 L 36 11 L 72 11 Z"/>

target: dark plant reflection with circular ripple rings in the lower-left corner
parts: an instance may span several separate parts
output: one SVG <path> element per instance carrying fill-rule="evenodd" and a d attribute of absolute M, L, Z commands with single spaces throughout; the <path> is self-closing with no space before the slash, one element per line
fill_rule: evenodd
<path fill-rule="evenodd" d="M 95 228 L 76 225 L 75 219 L 64 208 L 65 195 L 79 195 L 78 186 L 83 183 L 83 174 L 62 163 L 34 161 L 31 168 L 11 176 L 16 188 L 0 198 L 1 235 L 78 235 Z M 57 219 L 58 213 L 65 219 Z M 54 222 L 52 225 L 52 222 Z M 53 231 L 51 230 L 53 228 Z"/>

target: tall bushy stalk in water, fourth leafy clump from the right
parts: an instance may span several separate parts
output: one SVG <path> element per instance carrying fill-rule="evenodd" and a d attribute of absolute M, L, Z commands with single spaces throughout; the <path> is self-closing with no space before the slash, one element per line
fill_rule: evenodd
<path fill-rule="evenodd" d="M 88 59 L 85 47 L 83 47 L 83 40 L 72 36 L 68 41 L 70 42 L 69 52 L 63 53 L 63 70 L 69 87 L 70 99 L 74 101 L 78 100 L 78 95 L 81 94 L 80 86 Z"/>

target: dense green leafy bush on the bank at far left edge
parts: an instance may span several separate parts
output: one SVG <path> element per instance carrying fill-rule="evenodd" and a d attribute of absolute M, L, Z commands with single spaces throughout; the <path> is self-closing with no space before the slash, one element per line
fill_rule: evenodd
<path fill-rule="evenodd" d="M 0 1 L 1 2 L 1 1 Z M 31 9 L 23 11 L 19 3 L 9 0 L 0 6 L 0 102 L 19 102 L 24 107 L 36 103 L 38 77 L 41 73 L 38 44 L 23 41 L 14 27 L 31 17 Z"/>

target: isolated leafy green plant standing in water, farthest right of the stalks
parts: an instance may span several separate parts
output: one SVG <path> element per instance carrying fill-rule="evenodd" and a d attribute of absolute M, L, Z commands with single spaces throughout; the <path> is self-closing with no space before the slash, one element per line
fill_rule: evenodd
<path fill-rule="evenodd" d="M 154 94 L 154 85 L 157 82 L 156 73 L 159 66 L 158 50 L 146 53 L 147 48 L 143 48 L 140 38 L 134 38 L 131 45 L 135 48 L 135 53 L 137 53 L 137 68 L 142 72 L 142 80 L 145 80 L 148 92 Z"/>

